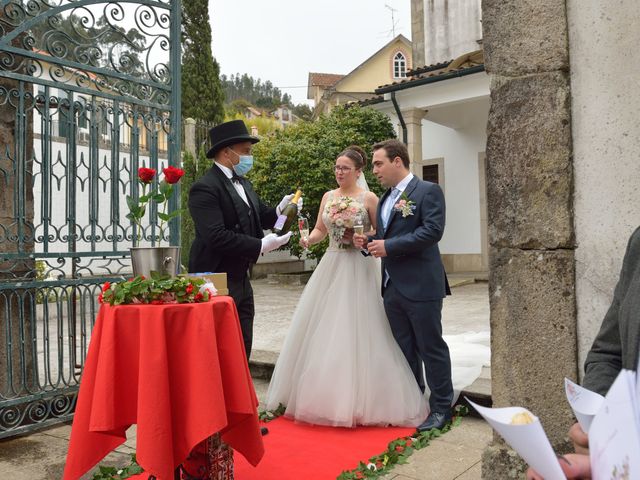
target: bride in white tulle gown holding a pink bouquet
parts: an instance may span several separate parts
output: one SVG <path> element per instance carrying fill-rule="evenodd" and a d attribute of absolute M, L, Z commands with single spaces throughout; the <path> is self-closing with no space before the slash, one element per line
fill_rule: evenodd
<path fill-rule="evenodd" d="M 379 260 L 347 240 L 358 217 L 364 231 L 376 228 L 365 163 L 357 146 L 338 155 L 338 188 L 324 194 L 315 228 L 300 241 L 330 237 L 293 314 L 266 407 L 283 404 L 286 416 L 320 425 L 417 426 L 428 407 L 384 313 Z"/>

